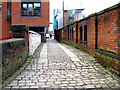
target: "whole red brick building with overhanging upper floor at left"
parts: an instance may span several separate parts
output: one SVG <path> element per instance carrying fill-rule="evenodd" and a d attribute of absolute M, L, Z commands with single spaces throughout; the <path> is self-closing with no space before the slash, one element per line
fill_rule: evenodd
<path fill-rule="evenodd" d="M 19 0 L 19 2 L 1 2 L 2 35 L 10 32 L 10 25 L 27 25 L 29 30 L 41 33 L 45 37 L 45 27 L 49 27 L 49 0 Z"/>

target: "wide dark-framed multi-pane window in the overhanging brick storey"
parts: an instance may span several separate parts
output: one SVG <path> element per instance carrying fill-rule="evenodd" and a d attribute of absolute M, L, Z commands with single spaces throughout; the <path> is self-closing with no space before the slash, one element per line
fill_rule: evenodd
<path fill-rule="evenodd" d="M 41 3 L 21 3 L 21 16 L 40 16 Z"/>

